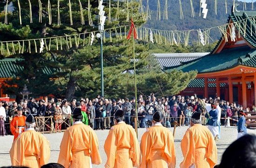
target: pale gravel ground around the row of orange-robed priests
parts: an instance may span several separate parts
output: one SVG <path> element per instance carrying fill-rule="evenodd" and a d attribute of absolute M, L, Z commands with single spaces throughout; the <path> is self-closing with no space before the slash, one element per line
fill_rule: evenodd
<path fill-rule="evenodd" d="M 188 129 L 188 126 L 183 126 L 183 127 L 177 127 L 175 131 L 174 139 L 175 139 L 175 152 L 176 152 L 176 168 L 179 168 L 179 164 L 183 160 L 180 144 L 181 144 L 182 137 L 187 129 Z M 173 128 L 170 128 L 170 130 L 173 132 Z M 99 149 L 100 149 L 102 163 L 100 165 L 93 165 L 94 168 L 104 168 L 104 164 L 106 163 L 107 156 L 104 152 L 103 147 L 104 147 L 105 139 L 108 136 L 108 131 L 109 130 L 95 131 L 99 139 Z M 141 142 L 141 137 L 145 131 L 146 131 L 145 128 L 138 129 L 139 143 Z M 250 134 L 256 134 L 255 128 L 247 129 L 247 131 Z M 63 137 L 63 132 L 52 133 L 52 134 L 46 133 L 44 134 L 44 136 L 47 137 L 51 147 L 51 157 L 49 162 L 57 162 L 59 152 L 60 152 L 59 147 L 61 144 L 61 139 Z M 221 139 L 216 142 L 217 152 L 218 152 L 218 163 L 220 163 L 221 161 L 221 157 L 224 150 L 229 146 L 229 144 L 231 144 L 233 141 L 236 140 L 236 137 L 237 137 L 237 127 L 234 127 L 234 126 L 221 127 Z M 12 142 L 13 142 L 13 136 L 0 137 L 0 167 L 11 166 L 9 150 L 11 149 Z"/>

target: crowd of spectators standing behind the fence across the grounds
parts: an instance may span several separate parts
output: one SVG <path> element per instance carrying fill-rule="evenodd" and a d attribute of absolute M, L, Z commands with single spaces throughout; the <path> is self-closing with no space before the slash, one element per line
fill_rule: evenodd
<path fill-rule="evenodd" d="M 215 99 L 220 99 L 219 97 Z M 203 98 L 203 102 L 212 104 L 214 99 L 209 97 Z M 164 126 L 170 127 L 171 123 L 175 121 L 180 126 L 189 125 L 189 119 L 193 112 L 201 112 L 202 124 L 206 125 L 207 118 L 205 116 L 205 110 L 202 107 L 202 101 L 194 96 L 162 96 L 158 99 L 151 93 L 144 100 L 142 95 L 139 95 L 138 100 L 135 97 L 131 99 L 117 99 L 110 100 L 97 95 L 96 98 L 89 100 L 88 98 L 80 100 L 72 100 L 68 102 L 66 99 L 52 98 L 48 102 L 45 100 L 35 100 L 33 97 L 30 100 L 22 100 L 18 104 L 16 101 L 9 105 L 8 102 L 2 101 L 2 106 L 6 110 L 6 135 L 11 134 L 9 124 L 12 118 L 17 115 L 17 107 L 22 106 L 22 114 L 27 116 L 32 114 L 34 117 L 45 117 L 38 121 L 39 131 L 53 130 L 54 123 L 55 130 L 65 130 L 71 124 L 71 115 L 76 106 L 81 106 L 81 110 L 86 112 L 88 116 L 88 125 L 93 129 L 110 129 L 114 124 L 113 117 L 116 110 L 121 109 L 124 112 L 126 124 L 131 124 L 135 127 L 135 103 L 137 102 L 138 120 L 137 126 L 145 128 L 152 123 L 152 116 L 156 111 L 162 112 Z M 236 106 L 236 103 L 229 103 L 229 101 L 220 100 L 219 104 L 222 112 L 221 117 L 230 117 L 238 119 L 238 112 L 249 112 L 249 108 L 243 110 L 243 106 Z M 252 109 L 253 111 L 253 109 Z M 51 117 L 52 116 L 52 117 Z M 65 120 L 65 122 L 63 122 Z M 231 124 L 236 124 L 236 120 L 232 120 Z M 45 124 L 49 126 L 45 126 Z M 221 124 L 226 124 L 225 119 L 221 119 Z"/>

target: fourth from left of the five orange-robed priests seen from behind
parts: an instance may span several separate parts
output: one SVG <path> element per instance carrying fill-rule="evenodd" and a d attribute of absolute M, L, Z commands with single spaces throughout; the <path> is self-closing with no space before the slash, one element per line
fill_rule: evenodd
<path fill-rule="evenodd" d="M 155 112 L 152 127 L 141 137 L 141 168 L 175 168 L 174 137 L 162 126 L 162 113 Z"/>

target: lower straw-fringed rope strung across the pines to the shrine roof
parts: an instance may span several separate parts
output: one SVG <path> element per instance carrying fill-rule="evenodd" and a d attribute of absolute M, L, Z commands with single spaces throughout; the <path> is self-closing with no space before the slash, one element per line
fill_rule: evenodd
<path fill-rule="evenodd" d="M 249 30 L 247 30 L 247 27 L 246 27 L 247 23 L 249 23 Z M 253 35 L 253 33 L 256 33 L 256 30 L 252 29 L 253 26 L 256 25 L 255 17 L 252 16 L 234 23 L 230 23 L 230 24 L 227 23 L 221 26 L 201 29 L 202 35 L 204 37 L 204 43 L 209 44 L 210 40 L 212 40 L 210 37 L 210 31 L 214 28 L 217 28 L 222 38 L 226 42 L 228 42 L 232 32 L 231 31 L 232 24 L 237 29 L 236 38 L 240 38 L 240 33 L 242 33 L 243 36 L 246 36 L 247 33 L 249 35 Z M 117 40 L 123 39 L 123 36 L 127 37 L 127 28 L 129 28 L 129 26 L 130 25 L 125 25 L 125 26 L 119 26 L 119 27 L 104 30 L 103 31 L 104 43 L 106 43 L 106 33 L 108 33 L 107 37 L 109 37 L 110 42 L 112 42 L 112 37 L 114 36 Z M 176 44 L 177 46 L 180 45 L 181 43 L 187 46 L 189 44 L 189 36 L 191 34 L 191 31 L 198 32 L 198 30 L 189 30 L 189 31 L 157 30 L 157 29 L 151 29 L 151 28 L 136 26 L 136 25 L 135 25 L 135 29 L 138 32 L 138 38 L 140 40 L 149 42 L 149 32 L 151 31 L 153 40 L 150 40 L 150 41 L 154 41 L 156 44 L 164 44 L 164 45 Z M 56 45 L 56 48 L 54 48 L 54 50 L 63 50 L 63 45 L 66 45 L 67 50 L 69 50 L 70 48 L 73 48 L 73 46 L 75 48 L 79 48 L 81 47 L 80 40 L 83 40 L 82 46 L 85 46 L 88 38 L 89 39 L 91 38 L 91 34 L 95 35 L 96 32 L 98 31 L 91 31 L 91 32 L 72 34 L 72 35 L 65 34 L 65 36 L 59 36 L 59 37 L 45 37 L 45 38 L 37 38 L 37 39 L 3 41 L 3 42 L 0 42 L 1 43 L 0 54 L 10 56 L 14 54 L 23 54 L 24 52 L 37 53 L 38 52 L 37 46 L 38 47 L 40 46 L 39 44 L 41 39 L 44 41 L 45 49 L 47 51 L 52 50 L 51 49 L 52 44 Z M 199 35 L 198 35 L 198 39 L 199 39 Z M 33 44 L 33 46 L 31 46 L 31 44 Z M 88 40 L 88 44 L 90 44 L 90 40 Z M 201 45 L 200 40 L 198 40 L 198 45 Z"/>

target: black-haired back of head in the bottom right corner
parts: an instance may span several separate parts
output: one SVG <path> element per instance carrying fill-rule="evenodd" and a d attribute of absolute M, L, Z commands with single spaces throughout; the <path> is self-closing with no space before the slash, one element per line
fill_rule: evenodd
<path fill-rule="evenodd" d="M 219 168 L 256 168 L 256 135 L 246 134 L 231 143 Z"/>

